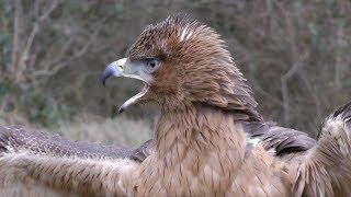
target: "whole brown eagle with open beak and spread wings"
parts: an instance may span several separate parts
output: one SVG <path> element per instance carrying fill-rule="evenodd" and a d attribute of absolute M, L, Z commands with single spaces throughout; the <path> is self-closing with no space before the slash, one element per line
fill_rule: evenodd
<path fill-rule="evenodd" d="M 118 109 L 152 103 L 154 138 L 137 149 L 0 127 L 0 189 L 47 196 L 348 196 L 351 103 L 318 141 L 265 121 L 225 42 L 184 15 L 147 26 L 101 74 L 144 88 Z M 21 190 L 21 192 L 23 192 Z M 19 194 L 19 193 L 16 193 Z"/>

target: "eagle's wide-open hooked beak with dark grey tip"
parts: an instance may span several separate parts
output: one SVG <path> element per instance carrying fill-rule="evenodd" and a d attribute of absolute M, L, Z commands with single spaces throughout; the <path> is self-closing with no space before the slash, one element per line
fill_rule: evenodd
<path fill-rule="evenodd" d="M 104 86 L 106 85 L 106 80 L 111 77 L 116 77 L 116 78 L 125 77 L 125 78 L 133 78 L 133 79 L 143 81 L 144 83 L 143 90 L 135 96 L 124 102 L 124 104 L 118 108 L 118 114 L 123 113 L 128 106 L 137 103 L 147 93 L 149 89 L 147 81 L 137 74 L 139 73 L 137 68 L 138 67 L 133 67 L 133 65 L 129 62 L 127 58 L 123 58 L 110 63 L 100 77 L 100 81 Z"/>

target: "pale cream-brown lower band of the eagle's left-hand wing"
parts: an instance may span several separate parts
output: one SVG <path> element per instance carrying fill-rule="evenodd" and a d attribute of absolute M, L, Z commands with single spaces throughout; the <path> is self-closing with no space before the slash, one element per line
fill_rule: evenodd
<path fill-rule="evenodd" d="M 70 194 L 121 196 L 126 195 L 137 166 L 127 159 L 92 160 L 7 152 L 0 158 L 0 188 L 22 183 L 25 187 L 45 185 Z"/>

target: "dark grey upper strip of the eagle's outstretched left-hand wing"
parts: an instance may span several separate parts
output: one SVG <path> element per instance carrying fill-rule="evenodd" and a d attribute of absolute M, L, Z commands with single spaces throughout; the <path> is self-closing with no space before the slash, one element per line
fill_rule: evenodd
<path fill-rule="evenodd" d="M 78 157 L 87 159 L 132 159 L 140 162 L 146 157 L 144 148 L 149 141 L 137 149 L 116 146 L 104 146 L 88 141 L 70 141 L 59 135 L 50 135 L 41 130 L 25 130 L 21 126 L 0 126 L 0 151 L 26 150 L 33 153 L 56 157 Z"/>

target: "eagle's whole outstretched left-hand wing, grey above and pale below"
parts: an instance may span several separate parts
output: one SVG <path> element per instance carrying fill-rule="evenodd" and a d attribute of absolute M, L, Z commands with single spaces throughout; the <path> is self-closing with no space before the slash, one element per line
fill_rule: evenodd
<path fill-rule="evenodd" d="M 132 176 L 132 169 L 145 159 L 145 150 L 143 146 L 134 150 L 73 142 L 43 131 L 0 126 L 0 190 L 35 196 L 52 195 L 48 188 L 126 194 L 127 186 L 117 183 L 124 183 L 123 174 Z"/>

